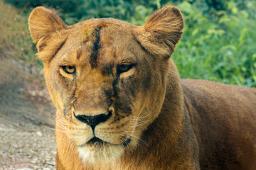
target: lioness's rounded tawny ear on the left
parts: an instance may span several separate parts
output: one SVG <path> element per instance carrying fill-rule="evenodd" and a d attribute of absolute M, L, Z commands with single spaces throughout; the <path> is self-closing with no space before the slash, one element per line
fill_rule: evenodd
<path fill-rule="evenodd" d="M 33 9 L 28 18 L 28 26 L 33 41 L 37 43 L 38 52 L 46 47 L 46 41 L 52 33 L 67 27 L 59 16 L 43 6 Z"/>

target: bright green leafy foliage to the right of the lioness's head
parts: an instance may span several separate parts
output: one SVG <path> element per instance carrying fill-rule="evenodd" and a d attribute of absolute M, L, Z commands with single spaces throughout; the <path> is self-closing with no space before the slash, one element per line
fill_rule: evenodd
<path fill-rule="evenodd" d="M 178 8 L 186 23 L 173 55 L 181 77 L 256 86 L 255 19 L 233 2 L 228 3 L 232 13 L 219 11 L 215 20 L 196 3 L 183 2 Z"/>

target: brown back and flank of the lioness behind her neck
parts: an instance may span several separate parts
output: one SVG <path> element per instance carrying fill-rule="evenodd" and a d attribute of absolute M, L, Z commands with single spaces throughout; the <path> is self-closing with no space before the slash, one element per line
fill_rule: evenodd
<path fill-rule="evenodd" d="M 256 89 L 182 79 L 201 169 L 256 169 Z"/>

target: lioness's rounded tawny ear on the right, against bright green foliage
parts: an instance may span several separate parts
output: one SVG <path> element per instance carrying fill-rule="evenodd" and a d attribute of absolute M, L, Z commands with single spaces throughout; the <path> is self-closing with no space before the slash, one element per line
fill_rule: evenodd
<path fill-rule="evenodd" d="M 181 11 L 166 6 L 154 12 L 137 30 L 137 39 L 152 55 L 169 58 L 181 39 L 184 26 Z"/>

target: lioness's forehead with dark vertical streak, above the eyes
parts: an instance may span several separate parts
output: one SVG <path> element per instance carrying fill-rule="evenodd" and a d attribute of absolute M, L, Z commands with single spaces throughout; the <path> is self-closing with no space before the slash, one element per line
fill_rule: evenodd
<path fill-rule="evenodd" d="M 128 26 L 128 27 L 127 27 Z M 135 62 L 139 47 L 132 32 L 132 24 L 112 18 L 90 19 L 70 29 L 63 42 L 61 62 L 74 59 L 90 63 L 91 67 L 106 67 L 105 64 Z M 68 64 L 68 63 L 66 63 Z"/>

